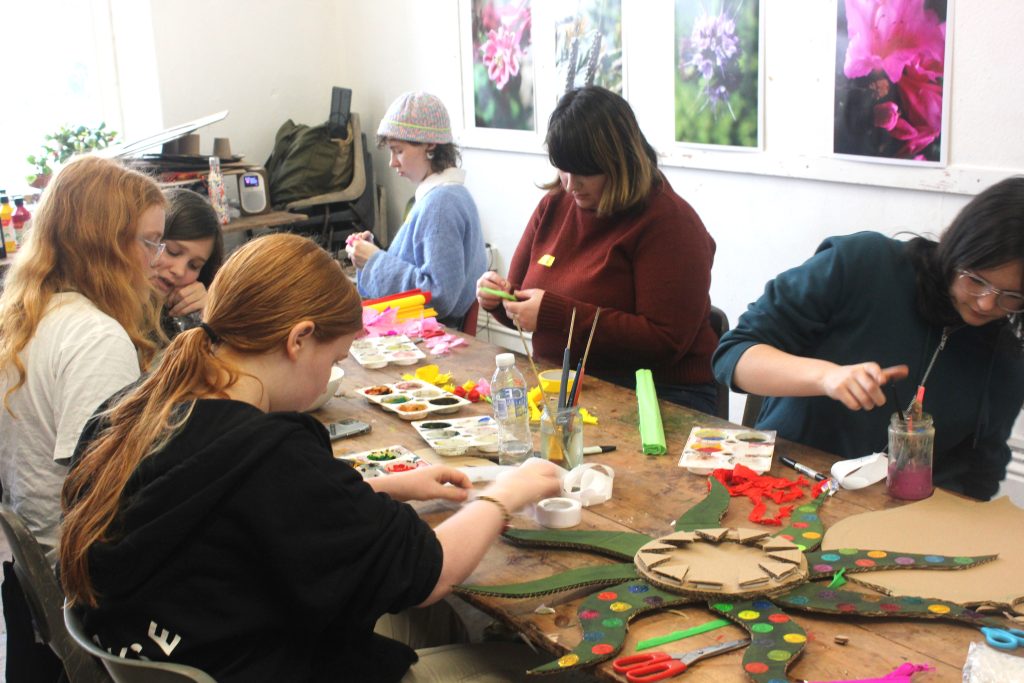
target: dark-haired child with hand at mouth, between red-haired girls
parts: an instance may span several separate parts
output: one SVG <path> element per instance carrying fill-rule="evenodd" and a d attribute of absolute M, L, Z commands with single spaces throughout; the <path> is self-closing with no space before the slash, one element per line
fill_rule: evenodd
<path fill-rule="evenodd" d="M 224 259 L 224 239 L 217 214 L 205 197 L 181 187 L 164 195 L 167 249 L 153 284 L 164 296 L 164 331 L 173 337 L 199 324 L 207 289 Z"/>

